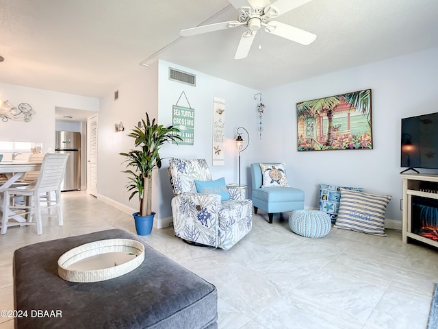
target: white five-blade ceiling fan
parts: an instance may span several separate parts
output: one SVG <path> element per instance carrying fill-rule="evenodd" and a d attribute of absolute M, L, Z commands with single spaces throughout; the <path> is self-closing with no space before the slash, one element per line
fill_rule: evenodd
<path fill-rule="evenodd" d="M 281 36 L 302 45 L 309 45 L 315 40 L 315 34 L 279 21 L 272 21 L 275 17 L 285 14 L 309 1 L 311 0 L 277 0 L 271 3 L 270 0 L 229 0 L 231 5 L 240 12 L 237 21 L 201 25 L 190 29 L 182 29 L 179 33 L 181 36 L 195 36 L 196 34 L 244 25 L 247 29 L 242 34 L 242 38 L 240 38 L 239 45 L 237 46 L 234 56 L 236 60 L 248 56 L 255 35 L 262 26 L 270 34 Z"/>

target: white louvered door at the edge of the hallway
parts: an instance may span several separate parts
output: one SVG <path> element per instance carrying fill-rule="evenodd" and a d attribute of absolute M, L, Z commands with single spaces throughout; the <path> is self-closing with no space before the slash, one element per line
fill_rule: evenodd
<path fill-rule="evenodd" d="M 97 197 L 97 114 L 88 118 L 87 193 Z"/>

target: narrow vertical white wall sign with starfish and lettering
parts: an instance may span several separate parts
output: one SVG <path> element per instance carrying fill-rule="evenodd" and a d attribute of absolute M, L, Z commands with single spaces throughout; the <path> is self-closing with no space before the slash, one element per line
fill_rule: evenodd
<path fill-rule="evenodd" d="M 225 100 L 213 97 L 213 165 L 225 164 Z"/>

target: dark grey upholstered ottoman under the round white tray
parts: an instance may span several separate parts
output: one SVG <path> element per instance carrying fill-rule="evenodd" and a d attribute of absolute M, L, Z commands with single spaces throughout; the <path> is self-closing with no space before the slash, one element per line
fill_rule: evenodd
<path fill-rule="evenodd" d="M 217 328 L 216 287 L 146 244 L 142 265 L 119 278 L 75 283 L 57 275 L 57 259 L 67 250 L 116 238 L 138 240 L 107 230 L 17 249 L 15 309 L 27 317 L 17 317 L 15 327 Z"/>

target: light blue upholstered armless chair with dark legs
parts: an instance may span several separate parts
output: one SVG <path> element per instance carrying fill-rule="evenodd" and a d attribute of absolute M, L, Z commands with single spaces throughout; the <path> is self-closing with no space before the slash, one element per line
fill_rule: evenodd
<path fill-rule="evenodd" d="M 278 165 L 278 162 L 263 162 L 268 165 Z M 283 171 L 283 170 L 281 170 Z M 285 171 L 283 171 L 285 175 Z M 274 213 L 304 209 L 304 191 L 289 186 L 263 185 L 263 173 L 259 163 L 251 164 L 253 187 L 253 206 L 257 214 L 258 208 L 268 212 L 269 223 L 272 223 Z M 272 181 L 276 179 L 273 178 Z"/>

